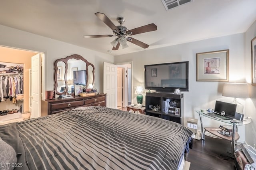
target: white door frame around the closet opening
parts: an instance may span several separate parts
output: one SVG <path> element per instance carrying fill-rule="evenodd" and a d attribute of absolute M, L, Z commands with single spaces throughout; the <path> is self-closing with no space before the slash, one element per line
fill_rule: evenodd
<path fill-rule="evenodd" d="M 16 47 L 16 45 L 3 45 L 3 44 L 0 44 L 0 46 L 2 47 L 6 47 L 6 48 L 12 48 L 12 49 L 19 49 L 19 50 L 23 50 L 23 51 L 31 51 L 31 52 L 35 52 L 35 53 L 39 53 L 40 56 L 41 56 L 41 60 L 42 60 L 42 74 L 41 74 L 41 79 L 42 79 L 42 83 L 41 83 L 41 91 L 40 91 L 40 98 L 41 100 L 44 100 L 45 99 L 45 94 L 43 93 L 45 91 L 45 85 L 46 85 L 46 82 L 45 82 L 45 53 L 44 50 L 42 49 L 28 49 L 27 47 Z M 31 68 L 30 68 L 31 69 Z M 31 80 L 29 80 L 31 81 Z M 29 84 L 31 84 L 31 82 L 29 82 Z M 28 93 L 30 93 L 30 89 L 28 91 Z M 28 103 L 30 105 L 30 102 Z M 41 102 L 39 103 L 40 107 L 41 107 Z M 28 108 L 30 108 L 30 106 L 28 106 Z M 40 112 L 40 115 L 41 115 L 41 112 Z"/>

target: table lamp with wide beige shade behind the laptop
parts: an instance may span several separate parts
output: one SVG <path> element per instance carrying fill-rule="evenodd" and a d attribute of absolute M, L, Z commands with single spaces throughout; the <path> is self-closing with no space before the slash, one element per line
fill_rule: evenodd
<path fill-rule="evenodd" d="M 236 112 L 243 113 L 244 106 L 236 98 L 249 98 L 249 87 L 246 83 L 224 83 L 222 96 L 234 97 L 232 103 L 236 104 Z"/>

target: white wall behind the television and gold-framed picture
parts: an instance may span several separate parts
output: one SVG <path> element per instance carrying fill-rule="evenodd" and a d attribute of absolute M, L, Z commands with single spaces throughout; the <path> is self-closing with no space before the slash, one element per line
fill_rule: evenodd
<path fill-rule="evenodd" d="M 230 82 L 245 83 L 247 72 L 244 58 L 244 36 L 245 34 L 235 34 L 115 56 L 114 63 L 133 61 L 132 102 L 136 103 L 134 87 L 137 85 L 144 86 L 144 65 L 189 61 L 189 91 L 183 92 L 184 123 L 186 123 L 188 118 L 196 118 L 199 120 L 199 116 L 195 113 L 195 109 L 214 108 L 217 99 L 228 102 L 233 101 L 232 98 L 222 96 L 224 82 L 196 81 L 196 53 L 229 49 Z M 244 100 L 241 100 L 240 102 L 244 103 Z M 220 125 L 220 122 L 208 118 L 204 118 L 203 121 L 205 127 L 218 127 Z M 244 128 L 239 128 L 239 132 L 240 140 L 243 141 L 245 138 Z"/>

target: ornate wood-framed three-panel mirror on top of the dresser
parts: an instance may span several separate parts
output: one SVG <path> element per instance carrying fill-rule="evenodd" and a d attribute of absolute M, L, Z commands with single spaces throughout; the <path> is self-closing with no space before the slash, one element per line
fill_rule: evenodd
<path fill-rule="evenodd" d="M 78 54 L 54 62 L 54 90 L 57 95 L 73 93 L 74 84 L 94 88 L 94 65 Z"/>

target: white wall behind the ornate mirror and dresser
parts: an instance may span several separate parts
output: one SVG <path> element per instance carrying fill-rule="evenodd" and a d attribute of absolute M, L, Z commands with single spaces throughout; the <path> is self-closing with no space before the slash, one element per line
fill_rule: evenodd
<path fill-rule="evenodd" d="M 99 53 L 2 25 L 0 25 L 0 32 L 0 45 L 45 53 L 46 90 L 54 89 L 54 61 L 72 54 L 79 54 L 94 65 L 95 87 L 99 92 L 103 92 L 103 62 L 113 63 L 114 59 L 112 55 Z"/>

